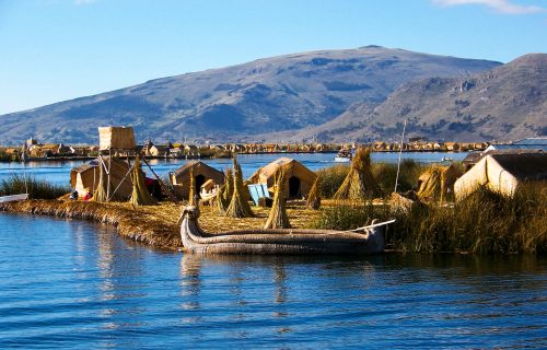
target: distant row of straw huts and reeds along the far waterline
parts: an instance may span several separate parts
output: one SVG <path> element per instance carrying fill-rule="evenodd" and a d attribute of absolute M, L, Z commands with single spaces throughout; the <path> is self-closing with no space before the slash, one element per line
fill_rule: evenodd
<path fill-rule="evenodd" d="M 375 152 L 398 152 L 400 143 L 376 141 L 370 144 Z M 410 138 L 403 143 L 404 152 L 468 152 L 482 151 L 489 142 L 434 142 Z M 353 143 L 209 143 L 193 144 L 166 142 L 155 144 L 151 140 L 137 147 L 148 159 L 210 159 L 230 158 L 233 154 L 264 153 L 328 153 L 357 148 Z M 92 159 L 98 155 L 98 145 L 70 145 L 65 143 L 42 143 L 31 138 L 21 147 L 0 147 L 0 161 L 40 161 Z M 118 154 L 121 155 L 121 154 Z"/>

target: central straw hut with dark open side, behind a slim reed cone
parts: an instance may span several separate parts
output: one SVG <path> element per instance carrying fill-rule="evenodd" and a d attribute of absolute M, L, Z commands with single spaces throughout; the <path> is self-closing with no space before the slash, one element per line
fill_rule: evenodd
<path fill-rule="evenodd" d="M 283 156 L 260 167 L 248 178 L 248 182 L 252 184 L 267 184 L 268 188 L 274 191 L 276 173 L 284 165 L 287 165 L 284 190 L 288 194 L 288 198 L 302 198 L 306 196 L 317 178 L 317 175 L 302 165 L 302 163 L 290 158 Z"/>

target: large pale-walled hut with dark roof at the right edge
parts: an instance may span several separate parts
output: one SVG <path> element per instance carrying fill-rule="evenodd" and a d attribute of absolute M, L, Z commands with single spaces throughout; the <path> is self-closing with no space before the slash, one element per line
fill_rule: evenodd
<path fill-rule="evenodd" d="M 454 184 L 456 199 L 463 199 L 481 186 L 512 197 L 524 182 L 547 180 L 547 153 L 519 152 L 485 155 Z"/>

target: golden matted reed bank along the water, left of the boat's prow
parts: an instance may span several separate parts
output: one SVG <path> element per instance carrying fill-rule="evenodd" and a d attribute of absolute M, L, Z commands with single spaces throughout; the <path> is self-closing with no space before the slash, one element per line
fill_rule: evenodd
<path fill-rule="evenodd" d="M 60 201 L 30 199 L 0 203 L 0 212 L 82 219 L 112 224 L 121 237 L 143 243 L 154 248 L 176 252 L 182 248 L 176 224 L 165 223 L 143 211 L 130 210 L 116 205 L 93 201 Z"/>

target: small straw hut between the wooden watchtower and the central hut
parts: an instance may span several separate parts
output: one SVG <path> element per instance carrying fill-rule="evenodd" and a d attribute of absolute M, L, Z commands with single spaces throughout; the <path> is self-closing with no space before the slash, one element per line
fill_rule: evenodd
<path fill-rule="evenodd" d="M 175 195 L 179 198 L 187 199 L 190 194 L 190 173 L 194 175 L 195 194 L 199 194 L 201 185 L 209 179 L 212 179 L 212 186 L 224 184 L 224 173 L 201 161 L 190 161 L 170 174 Z"/>

